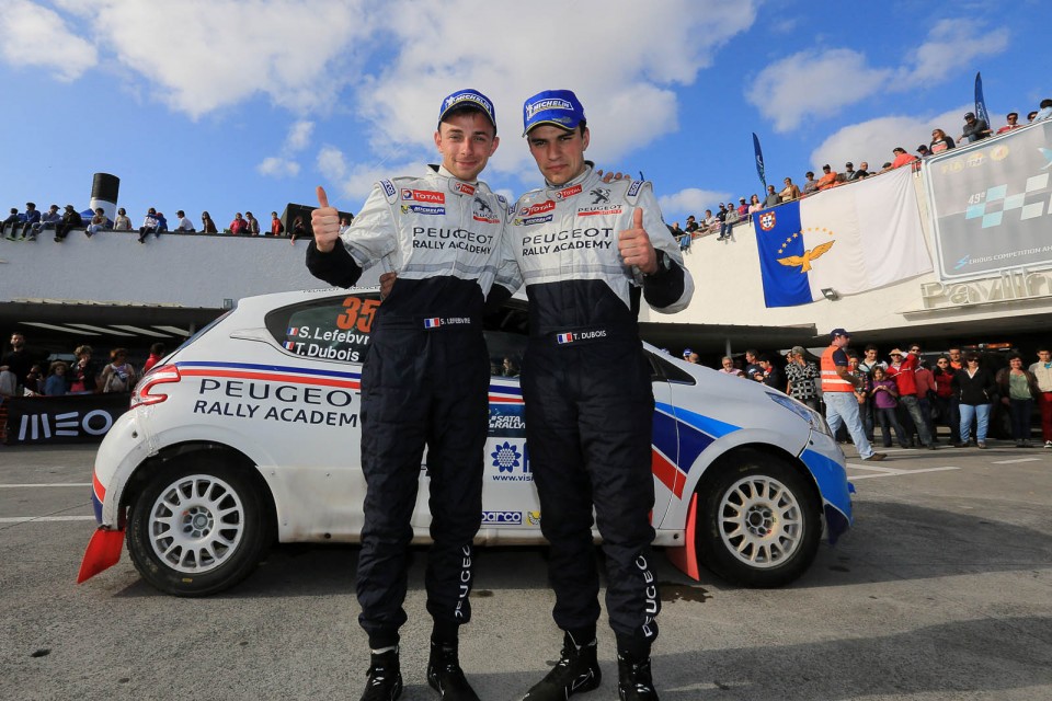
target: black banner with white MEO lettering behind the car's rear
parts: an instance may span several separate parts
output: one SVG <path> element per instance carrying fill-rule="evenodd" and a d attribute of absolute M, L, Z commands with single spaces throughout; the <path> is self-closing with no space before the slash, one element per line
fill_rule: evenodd
<path fill-rule="evenodd" d="M 67 394 L 8 400 L 4 444 L 99 443 L 128 411 L 130 394 Z"/>

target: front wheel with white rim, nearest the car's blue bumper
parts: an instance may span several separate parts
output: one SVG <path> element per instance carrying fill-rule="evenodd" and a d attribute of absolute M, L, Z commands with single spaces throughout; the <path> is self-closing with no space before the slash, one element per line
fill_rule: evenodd
<path fill-rule="evenodd" d="M 753 450 L 717 469 L 698 499 L 700 562 L 746 587 L 780 587 L 802 575 L 822 537 L 814 486 L 785 460 Z"/>

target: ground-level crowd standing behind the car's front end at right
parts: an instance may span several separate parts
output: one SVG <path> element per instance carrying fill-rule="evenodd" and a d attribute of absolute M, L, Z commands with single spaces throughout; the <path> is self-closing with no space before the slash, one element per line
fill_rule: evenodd
<path fill-rule="evenodd" d="M 1031 447 L 1033 410 L 1040 410 L 1041 443 L 1052 449 L 1052 347 L 1041 346 L 1027 363 L 1017 352 L 984 352 L 951 346 L 946 353 L 925 354 L 913 343 L 894 347 L 880 359 L 876 345 L 860 357 L 848 348 L 849 370 L 861 379 L 855 391 L 866 437 L 872 443 L 880 428 L 882 445 L 934 448 L 939 429 L 948 445 L 986 448 L 991 434 Z M 683 358 L 698 364 L 698 354 L 685 348 Z M 718 371 L 762 382 L 823 411 L 817 364 L 801 346 L 785 354 L 750 348 L 720 359 Z M 847 441 L 846 435 L 838 436 Z"/>

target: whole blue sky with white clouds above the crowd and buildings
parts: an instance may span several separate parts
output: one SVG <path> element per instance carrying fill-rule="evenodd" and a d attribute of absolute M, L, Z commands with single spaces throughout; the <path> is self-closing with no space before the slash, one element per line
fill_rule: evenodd
<path fill-rule="evenodd" d="M 761 192 L 753 131 L 780 188 L 956 138 L 976 71 L 994 128 L 1025 120 L 1052 97 L 1050 25 L 1048 0 L 0 0 L 0 206 L 84 208 L 108 172 L 136 225 L 151 206 L 265 220 L 318 184 L 356 211 L 434 162 L 464 87 L 496 105 L 483 177 L 514 196 L 539 182 L 522 103 L 568 88 L 588 156 L 642 171 L 672 222 Z"/>

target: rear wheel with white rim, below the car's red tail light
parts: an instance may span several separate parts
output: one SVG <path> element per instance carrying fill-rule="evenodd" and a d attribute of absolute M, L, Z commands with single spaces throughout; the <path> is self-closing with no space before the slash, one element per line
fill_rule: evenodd
<path fill-rule="evenodd" d="M 186 457 L 139 492 L 128 519 L 128 553 L 150 585 L 208 596 L 244 579 L 272 541 L 268 509 L 245 468 Z"/>

